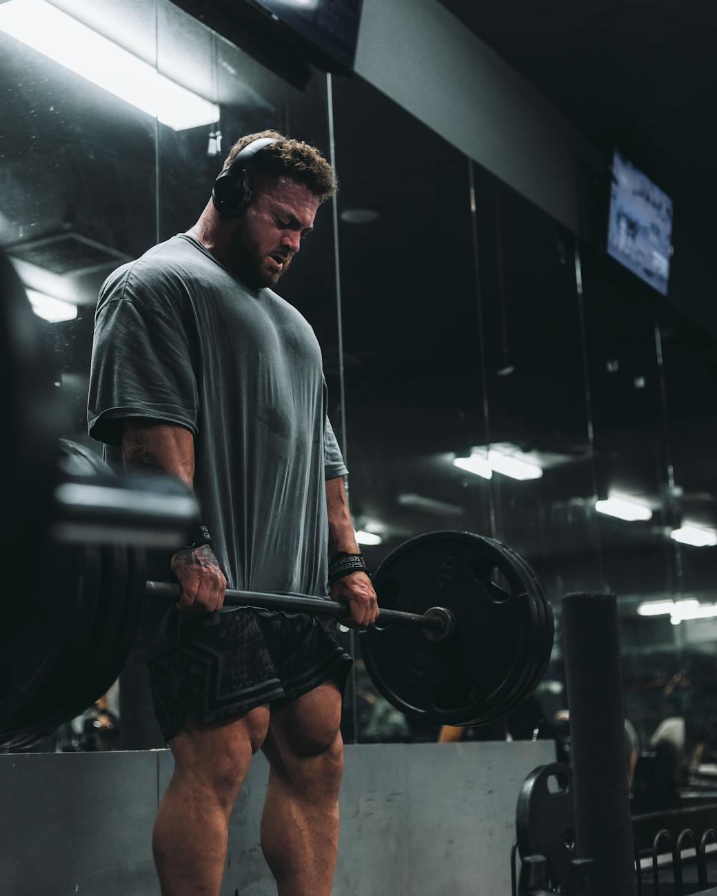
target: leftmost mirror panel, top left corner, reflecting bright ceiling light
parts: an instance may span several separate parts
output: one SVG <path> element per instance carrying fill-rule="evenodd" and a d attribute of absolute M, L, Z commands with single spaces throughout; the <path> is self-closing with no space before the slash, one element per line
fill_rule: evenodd
<path fill-rule="evenodd" d="M 112 41 L 153 62 L 154 8 L 151 3 L 66 2 L 48 6 L 42 22 L 0 18 L 2 100 L 2 214 L 7 252 L 44 314 L 70 303 L 66 322 L 43 320 L 54 349 L 58 400 L 65 429 L 86 440 L 86 402 L 94 305 L 99 285 L 118 264 L 154 239 L 155 120 L 73 65 L 68 47 L 52 40 L 60 27 L 83 30 L 88 47 Z M 112 22 L 122 7 L 122 30 Z M 4 13 L 22 4 L 4 4 Z M 31 27 L 30 27 L 31 26 Z M 134 36 L 134 39 L 133 39 Z M 29 43 L 32 46 L 29 46 Z M 121 45 L 121 46 L 120 46 Z M 41 47 L 41 48 L 38 48 Z M 70 43 L 72 47 L 72 43 Z M 61 60 L 61 61 L 58 61 Z M 151 65 L 146 72 L 151 75 Z"/>

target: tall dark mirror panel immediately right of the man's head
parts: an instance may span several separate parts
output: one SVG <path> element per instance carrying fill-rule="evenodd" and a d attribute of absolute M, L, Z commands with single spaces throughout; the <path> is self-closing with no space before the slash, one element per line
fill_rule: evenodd
<path fill-rule="evenodd" d="M 411 536 L 490 534 L 467 160 L 358 77 L 334 79 L 350 501 L 372 569 Z M 472 478 L 477 479 L 477 478 Z M 435 740 L 361 663 L 358 739 Z"/>

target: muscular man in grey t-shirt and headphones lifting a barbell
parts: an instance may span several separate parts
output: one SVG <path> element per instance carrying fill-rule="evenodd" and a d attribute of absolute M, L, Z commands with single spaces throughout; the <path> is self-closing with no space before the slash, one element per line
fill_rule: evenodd
<path fill-rule="evenodd" d="M 148 607 L 144 621 L 175 759 L 152 840 L 164 896 L 220 892 L 229 813 L 259 748 L 261 842 L 279 893 L 331 890 L 350 657 L 327 617 L 222 602 L 228 586 L 326 597 L 330 580 L 350 625 L 377 616 L 321 350 L 272 291 L 334 189 L 313 147 L 243 137 L 194 227 L 123 265 L 99 297 L 90 433 L 109 460 L 181 478 L 202 509 L 194 544 L 171 556 L 178 609 Z"/>

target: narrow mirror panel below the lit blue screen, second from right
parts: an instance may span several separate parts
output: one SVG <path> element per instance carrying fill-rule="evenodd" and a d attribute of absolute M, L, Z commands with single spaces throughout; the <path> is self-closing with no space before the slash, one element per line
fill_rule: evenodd
<path fill-rule="evenodd" d="M 603 588 L 618 595 L 626 716 L 643 748 L 664 717 L 662 689 L 680 668 L 669 616 L 638 616 L 678 582 L 669 531 L 669 454 L 657 294 L 609 259 L 583 250 L 585 329 L 602 546 Z M 630 504 L 615 504 L 615 499 Z M 642 517 L 626 520 L 611 515 Z M 659 685 L 659 683 L 662 683 Z"/>

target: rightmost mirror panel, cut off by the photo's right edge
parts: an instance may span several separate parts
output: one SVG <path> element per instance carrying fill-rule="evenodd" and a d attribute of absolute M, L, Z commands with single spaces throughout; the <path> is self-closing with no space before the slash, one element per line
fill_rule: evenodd
<path fill-rule="evenodd" d="M 717 759 L 713 722 L 717 711 L 717 508 L 713 488 L 717 425 L 711 402 L 704 401 L 705 393 L 713 392 L 715 340 L 670 307 L 661 312 L 657 338 L 669 435 L 668 523 L 675 536 L 685 539 L 671 544 L 677 570 L 671 599 L 685 603 L 678 603 L 676 625 L 670 626 L 678 656 L 672 668 L 665 670 L 671 677 L 661 691 L 653 719 L 685 719 L 681 771 L 697 776 L 691 782 L 696 787 L 704 784 L 699 775 L 710 775 Z M 684 621 L 678 622 L 679 618 Z M 663 631 L 668 621 L 669 614 L 661 616 Z M 656 729 L 652 738 L 659 739 Z"/>

